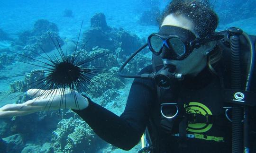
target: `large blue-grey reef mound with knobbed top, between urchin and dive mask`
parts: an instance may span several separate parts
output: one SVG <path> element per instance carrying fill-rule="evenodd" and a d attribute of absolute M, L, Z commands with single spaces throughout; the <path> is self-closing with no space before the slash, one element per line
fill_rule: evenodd
<path fill-rule="evenodd" d="M 88 51 L 95 46 L 110 51 L 121 47 L 125 55 L 129 55 L 142 44 L 136 35 L 131 35 L 123 29 L 109 27 L 103 13 L 91 17 L 91 29 L 83 33 L 83 42 L 87 41 L 85 49 Z"/>

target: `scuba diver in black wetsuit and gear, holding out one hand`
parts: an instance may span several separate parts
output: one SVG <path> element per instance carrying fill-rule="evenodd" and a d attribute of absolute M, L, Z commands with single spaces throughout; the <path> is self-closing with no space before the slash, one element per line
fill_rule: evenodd
<path fill-rule="evenodd" d="M 61 108 L 72 109 L 123 150 L 142 138 L 140 153 L 256 153 L 255 37 L 234 27 L 215 32 L 218 22 L 207 0 L 172 0 L 159 32 L 120 68 L 120 76 L 135 78 L 120 116 L 78 92 L 80 109 L 70 94 Z M 122 74 L 146 46 L 152 65 L 137 75 Z M 41 95 L 37 89 L 27 93 Z M 50 110 L 58 110 L 62 95 L 55 95 L 5 105 L 0 117 L 42 111 L 51 98 Z"/>

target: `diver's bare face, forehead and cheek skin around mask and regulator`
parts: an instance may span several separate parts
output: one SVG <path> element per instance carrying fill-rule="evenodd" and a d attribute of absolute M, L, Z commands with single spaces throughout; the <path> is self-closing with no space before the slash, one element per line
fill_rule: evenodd
<path fill-rule="evenodd" d="M 194 32 L 192 21 L 183 16 L 169 15 L 165 17 L 162 26 L 178 26 L 191 31 L 198 37 Z M 161 57 L 165 65 L 174 65 L 176 67 L 175 72 L 182 73 L 184 75 L 196 76 L 203 68 L 206 67 L 207 54 L 213 49 L 215 44 L 216 42 L 208 42 L 205 45 L 201 45 L 201 47 L 194 49 L 192 53 L 183 60 L 174 60 L 169 58 L 170 56 L 168 54 L 170 52 L 164 46 Z"/>

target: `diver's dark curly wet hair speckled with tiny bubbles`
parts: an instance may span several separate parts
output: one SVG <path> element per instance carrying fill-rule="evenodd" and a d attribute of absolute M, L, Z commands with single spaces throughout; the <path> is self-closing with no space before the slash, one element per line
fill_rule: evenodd
<path fill-rule="evenodd" d="M 169 14 L 190 18 L 194 24 L 195 32 L 200 37 L 213 34 L 219 24 L 219 18 L 210 7 L 209 0 L 172 0 L 166 6 L 159 22 L 162 24 Z"/>

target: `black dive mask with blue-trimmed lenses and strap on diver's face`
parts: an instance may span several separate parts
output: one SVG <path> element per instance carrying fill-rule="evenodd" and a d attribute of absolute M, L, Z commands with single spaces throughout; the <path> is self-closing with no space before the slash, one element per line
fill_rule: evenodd
<path fill-rule="evenodd" d="M 197 38 L 191 31 L 177 26 L 162 26 L 158 33 L 150 34 L 147 43 L 150 51 L 160 55 L 168 50 L 168 59 L 183 60 L 203 43 L 217 40 L 216 37 Z"/>

